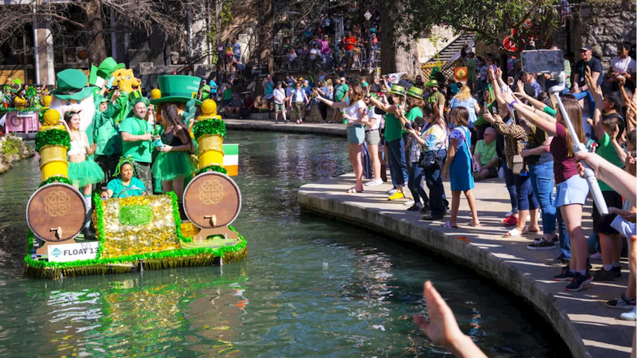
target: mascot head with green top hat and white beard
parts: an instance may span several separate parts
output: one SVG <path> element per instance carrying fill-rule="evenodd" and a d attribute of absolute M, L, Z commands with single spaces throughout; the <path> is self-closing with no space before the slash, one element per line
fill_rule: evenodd
<path fill-rule="evenodd" d="M 87 76 L 79 69 L 64 69 L 57 73 L 55 90 L 51 91 L 49 108 L 61 116 L 68 111 L 79 112 L 80 131 L 86 131 L 95 115 L 93 91 L 87 87 L 87 82 Z"/>

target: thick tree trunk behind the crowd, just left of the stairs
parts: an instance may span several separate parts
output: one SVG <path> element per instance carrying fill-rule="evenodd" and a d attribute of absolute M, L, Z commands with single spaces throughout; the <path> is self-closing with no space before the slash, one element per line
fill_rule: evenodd
<path fill-rule="evenodd" d="M 396 22 L 392 16 L 394 11 L 391 10 L 396 3 L 391 0 L 383 2 L 385 3 L 384 8 L 388 10 L 380 13 L 380 23 L 383 29 L 380 44 L 380 71 L 383 75 L 406 72 L 413 79 L 421 74 L 417 43 L 396 29 Z M 410 48 L 406 49 L 399 43 L 410 45 Z"/>

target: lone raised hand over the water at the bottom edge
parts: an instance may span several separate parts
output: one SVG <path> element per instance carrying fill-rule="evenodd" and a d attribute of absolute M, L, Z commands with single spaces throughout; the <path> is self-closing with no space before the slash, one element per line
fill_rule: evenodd
<path fill-rule="evenodd" d="M 447 348 L 456 357 L 487 357 L 469 336 L 462 333 L 455 321 L 454 313 L 445 299 L 434 289 L 431 281 L 425 282 L 423 294 L 427 301 L 429 321 L 421 315 L 414 315 L 413 322 L 431 341 Z"/>

